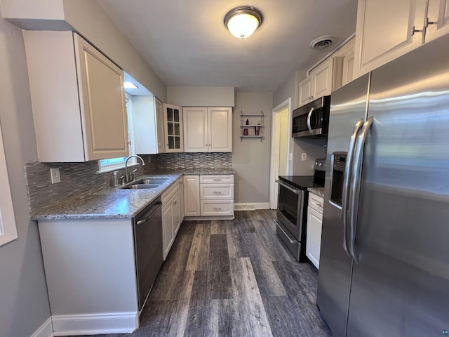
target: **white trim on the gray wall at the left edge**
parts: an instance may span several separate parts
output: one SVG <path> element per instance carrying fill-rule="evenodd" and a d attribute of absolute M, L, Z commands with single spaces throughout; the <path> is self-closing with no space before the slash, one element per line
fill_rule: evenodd
<path fill-rule="evenodd" d="M 8 169 L 6 169 L 6 158 L 1 137 L 0 128 L 0 176 L 6 177 L 1 184 L 0 192 L 0 246 L 17 239 L 17 228 L 15 227 L 15 217 L 13 200 L 11 199 L 11 188 L 8 180 Z"/>

